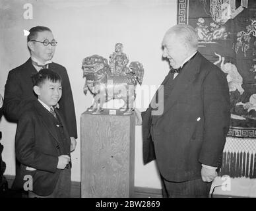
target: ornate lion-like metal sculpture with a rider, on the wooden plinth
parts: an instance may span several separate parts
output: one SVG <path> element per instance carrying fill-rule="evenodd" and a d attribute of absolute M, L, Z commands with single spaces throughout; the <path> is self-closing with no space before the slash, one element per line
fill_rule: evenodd
<path fill-rule="evenodd" d="M 138 61 L 127 64 L 129 59 L 123 53 L 123 45 L 115 44 L 115 52 L 108 60 L 99 55 L 92 55 L 82 60 L 83 76 L 86 78 L 84 93 L 88 90 L 94 96 L 94 103 L 88 108 L 92 114 L 100 114 L 105 102 L 112 99 L 122 99 L 125 104 L 120 108 L 124 115 L 132 113 L 136 98 L 137 83 L 143 82 L 144 69 Z"/>

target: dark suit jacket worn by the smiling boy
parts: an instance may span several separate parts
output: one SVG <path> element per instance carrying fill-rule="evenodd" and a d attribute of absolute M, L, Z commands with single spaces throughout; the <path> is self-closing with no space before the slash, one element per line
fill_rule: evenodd
<path fill-rule="evenodd" d="M 53 115 L 40 102 L 33 102 L 18 120 L 15 136 L 16 177 L 13 189 L 22 189 L 25 175 L 32 175 L 36 195 L 48 196 L 53 192 L 61 169 L 57 169 L 58 156 L 70 156 L 70 137 L 63 118 L 55 111 L 63 127 L 64 140 L 57 136 Z M 71 163 L 70 163 L 71 164 Z M 36 170 L 30 171 L 27 167 Z"/>

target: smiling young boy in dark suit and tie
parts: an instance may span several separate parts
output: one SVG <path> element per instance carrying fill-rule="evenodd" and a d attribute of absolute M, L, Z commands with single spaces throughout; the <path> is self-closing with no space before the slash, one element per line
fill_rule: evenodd
<path fill-rule="evenodd" d="M 32 80 L 38 100 L 18 121 L 13 189 L 28 191 L 28 197 L 69 197 L 70 138 L 63 117 L 54 109 L 62 94 L 61 77 L 42 69 Z"/>

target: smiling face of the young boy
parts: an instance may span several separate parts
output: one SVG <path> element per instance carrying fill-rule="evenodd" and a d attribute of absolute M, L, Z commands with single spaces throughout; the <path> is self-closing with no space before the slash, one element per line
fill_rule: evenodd
<path fill-rule="evenodd" d="M 52 82 L 46 80 L 40 86 L 34 86 L 34 91 L 38 95 L 38 99 L 44 102 L 46 105 L 55 106 L 61 99 L 62 86 L 61 82 Z"/>

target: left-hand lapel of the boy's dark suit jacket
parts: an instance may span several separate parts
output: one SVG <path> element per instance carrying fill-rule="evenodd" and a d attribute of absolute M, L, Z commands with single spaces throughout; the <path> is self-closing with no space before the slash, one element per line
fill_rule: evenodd
<path fill-rule="evenodd" d="M 49 111 L 40 104 L 40 102 L 36 102 L 36 106 L 37 106 L 37 111 L 41 117 L 42 122 L 44 123 L 46 129 L 48 129 L 49 133 L 51 134 L 51 136 L 53 136 L 53 138 L 58 142 L 59 144 L 59 140 L 57 137 L 57 133 L 55 131 L 55 125 L 53 123 L 53 117 L 51 115 L 51 113 L 49 113 Z"/>

